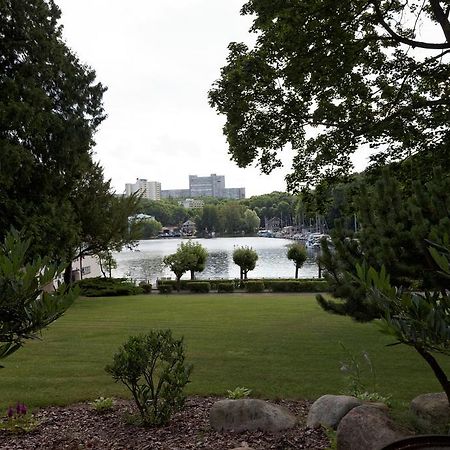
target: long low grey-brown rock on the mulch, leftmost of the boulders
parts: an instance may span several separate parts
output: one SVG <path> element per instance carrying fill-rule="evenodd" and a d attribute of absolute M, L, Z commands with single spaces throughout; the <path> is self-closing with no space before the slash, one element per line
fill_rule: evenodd
<path fill-rule="evenodd" d="M 270 431 L 292 428 L 296 417 L 282 406 L 263 400 L 220 400 L 209 412 L 211 426 L 217 431 Z"/>

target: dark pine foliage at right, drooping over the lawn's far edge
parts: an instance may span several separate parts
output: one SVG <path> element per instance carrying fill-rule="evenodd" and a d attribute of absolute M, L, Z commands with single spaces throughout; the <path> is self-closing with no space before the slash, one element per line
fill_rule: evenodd
<path fill-rule="evenodd" d="M 450 227 L 450 177 L 435 169 L 433 180 L 414 184 L 414 193 L 402 195 L 402 186 L 389 173 L 373 188 L 362 185 L 356 199 L 360 230 L 357 234 L 337 226 L 334 249 L 322 245 L 322 267 L 333 297 L 318 297 L 327 311 L 359 321 L 380 316 L 366 299 L 366 287 L 355 277 L 357 264 L 381 270 L 392 284 L 411 289 L 439 288 L 445 279 L 434 270 L 427 240 L 436 240 Z"/>

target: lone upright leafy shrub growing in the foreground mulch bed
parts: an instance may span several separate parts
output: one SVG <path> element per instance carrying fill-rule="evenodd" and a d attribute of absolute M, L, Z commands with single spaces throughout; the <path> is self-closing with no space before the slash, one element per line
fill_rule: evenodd
<path fill-rule="evenodd" d="M 144 426 L 162 426 L 183 408 L 192 366 L 185 363 L 183 339 L 156 330 L 130 336 L 105 370 L 131 391 Z"/>

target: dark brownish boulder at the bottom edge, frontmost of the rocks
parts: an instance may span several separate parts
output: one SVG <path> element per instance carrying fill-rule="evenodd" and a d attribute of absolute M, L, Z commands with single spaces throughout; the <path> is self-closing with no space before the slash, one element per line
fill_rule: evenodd
<path fill-rule="evenodd" d="M 408 435 L 382 409 L 357 406 L 343 417 L 337 428 L 337 450 L 379 450 Z"/>

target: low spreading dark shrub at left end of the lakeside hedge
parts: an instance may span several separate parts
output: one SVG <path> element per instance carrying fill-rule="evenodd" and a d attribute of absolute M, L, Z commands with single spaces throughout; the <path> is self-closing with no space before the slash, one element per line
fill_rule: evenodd
<path fill-rule="evenodd" d="M 76 285 L 80 288 L 80 294 L 85 297 L 115 297 L 144 292 L 141 286 L 136 286 L 126 278 L 85 278 L 77 281 Z"/>

